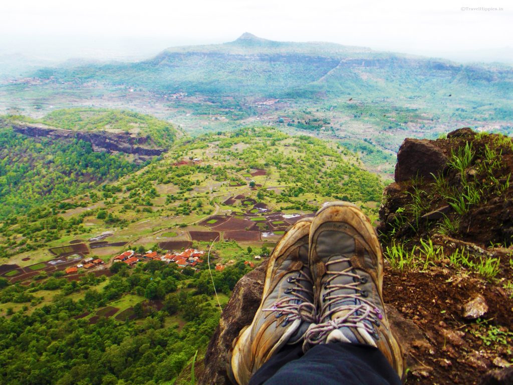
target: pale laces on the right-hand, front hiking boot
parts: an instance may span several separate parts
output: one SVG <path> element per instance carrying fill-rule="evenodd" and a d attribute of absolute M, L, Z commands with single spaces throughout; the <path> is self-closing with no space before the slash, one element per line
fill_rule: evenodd
<path fill-rule="evenodd" d="M 374 325 L 378 326 L 380 324 L 383 315 L 374 303 L 365 299 L 368 294 L 358 287 L 360 284 L 367 282 L 366 278 L 352 273 L 351 265 L 343 271 L 329 271 L 329 265 L 340 262 L 350 262 L 350 258 L 336 259 L 325 264 L 325 274 L 329 277 L 324 283 L 326 292 L 322 296 L 322 301 L 320 300 L 322 303 L 320 323 L 308 329 L 305 334 L 304 346 L 324 343 L 331 331 L 340 328 L 363 328 L 374 339 L 378 339 Z M 352 282 L 347 284 L 332 283 L 337 277 L 346 277 L 349 278 L 347 281 L 351 280 Z M 341 289 L 353 290 L 354 293 L 337 294 L 337 291 Z M 343 315 L 333 320 L 330 319 L 333 314 L 339 312 L 342 312 Z"/>

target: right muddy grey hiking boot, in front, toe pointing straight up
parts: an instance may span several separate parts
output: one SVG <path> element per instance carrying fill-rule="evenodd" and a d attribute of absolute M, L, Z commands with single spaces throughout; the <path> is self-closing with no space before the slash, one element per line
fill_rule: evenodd
<path fill-rule="evenodd" d="M 310 271 L 319 323 L 305 335 L 304 350 L 349 342 L 378 348 L 403 376 L 403 356 L 383 303 L 383 257 L 369 219 L 353 204 L 333 202 L 310 226 Z"/>

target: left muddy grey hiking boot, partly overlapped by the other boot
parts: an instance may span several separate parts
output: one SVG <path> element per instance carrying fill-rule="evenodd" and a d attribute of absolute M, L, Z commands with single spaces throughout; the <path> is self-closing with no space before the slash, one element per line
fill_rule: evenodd
<path fill-rule="evenodd" d="M 313 281 L 308 267 L 310 223 L 311 219 L 295 223 L 269 257 L 260 307 L 253 322 L 233 341 L 228 357 L 228 375 L 240 385 L 247 384 L 286 344 L 302 343 L 314 322 Z"/>

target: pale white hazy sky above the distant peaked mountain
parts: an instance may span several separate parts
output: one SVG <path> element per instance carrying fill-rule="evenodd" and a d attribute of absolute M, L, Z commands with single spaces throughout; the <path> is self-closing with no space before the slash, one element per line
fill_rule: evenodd
<path fill-rule="evenodd" d="M 0 12 L 0 53 L 49 59 L 133 59 L 247 31 L 446 57 L 479 51 L 497 60 L 504 48 L 511 52 L 513 36 L 513 3 L 504 0 L 2 0 Z"/>

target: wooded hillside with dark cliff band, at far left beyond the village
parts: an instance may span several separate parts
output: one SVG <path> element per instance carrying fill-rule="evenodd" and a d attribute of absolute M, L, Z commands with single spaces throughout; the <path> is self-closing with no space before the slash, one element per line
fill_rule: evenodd
<path fill-rule="evenodd" d="M 166 122 L 126 111 L 6 116 L 0 119 L 0 218 L 115 181 L 160 156 L 175 135 Z"/>

